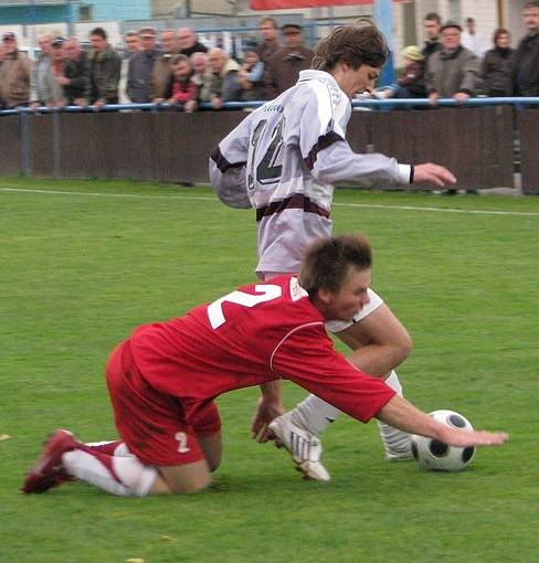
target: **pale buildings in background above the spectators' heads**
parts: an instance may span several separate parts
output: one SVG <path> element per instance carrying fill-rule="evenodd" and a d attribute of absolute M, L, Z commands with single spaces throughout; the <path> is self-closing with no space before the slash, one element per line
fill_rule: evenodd
<path fill-rule="evenodd" d="M 279 24 L 303 22 L 306 44 L 313 46 L 317 39 L 338 23 L 373 15 L 373 3 L 357 0 L 353 6 L 319 6 L 323 0 L 279 0 L 292 8 L 285 10 L 254 10 L 253 2 L 265 0 L 0 0 L 0 31 L 10 30 L 25 38 L 28 45 L 35 44 L 40 33 L 75 34 L 87 39 L 87 32 L 97 23 L 103 25 L 110 42 L 121 44 L 121 34 L 130 29 L 150 25 L 157 30 L 191 26 L 201 31 L 208 44 L 236 49 L 243 36 L 257 36 L 256 22 L 263 15 L 276 17 Z M 272 1 L 272 0 L 266 0 Z M 392 12 L 392 44 L 395 53 L 404 46 L 424 41 L 423 17 L 438 12 L 442 20 L 453 19 L 464 23 L 474 18 L 477 31 L 490 38 L 498 26 L 509 29 L 514 42 L 524 35 L 520 12 L 526 0 L 395 0 Z M 218 31 L 224 30 L 224 33 Z M 24 43 L 24 40 L 21 44 Z M 400 61 L 395 61 L 400 65 Z"/>

